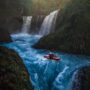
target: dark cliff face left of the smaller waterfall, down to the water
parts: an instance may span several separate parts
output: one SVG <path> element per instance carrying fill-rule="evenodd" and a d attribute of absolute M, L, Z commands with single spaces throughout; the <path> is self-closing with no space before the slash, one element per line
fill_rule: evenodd
<path fill-rule="evenodd" d="M 0 42 L 9 42 L 8 32 L 14 32 L 21 27 L 22 4 L 20 0 L 0 1 Z M 18 19 L 17 19 L 18 18 Z"/>

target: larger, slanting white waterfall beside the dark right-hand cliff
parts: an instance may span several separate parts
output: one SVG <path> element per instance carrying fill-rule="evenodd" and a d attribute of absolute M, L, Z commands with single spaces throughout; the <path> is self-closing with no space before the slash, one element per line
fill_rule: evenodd
<path fill-rule="evenodd" d="M 55 28 L 56 17 L 57 17 L 58 11 L 59 10 L 53 11 L 48 16 L 45 17 L 39 31 L 40 35 L 47 35 L 51 31 L 53 32 Z"/>

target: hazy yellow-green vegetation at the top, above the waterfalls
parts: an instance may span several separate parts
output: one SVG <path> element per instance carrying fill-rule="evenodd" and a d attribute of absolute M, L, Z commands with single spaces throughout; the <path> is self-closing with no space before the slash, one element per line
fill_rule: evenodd
<path fill-rule="evenodd" d="M 70 0 L 32 0 L 29 11 L 32 15 L 46 15 L 63 7 L 69 1 Z"/>

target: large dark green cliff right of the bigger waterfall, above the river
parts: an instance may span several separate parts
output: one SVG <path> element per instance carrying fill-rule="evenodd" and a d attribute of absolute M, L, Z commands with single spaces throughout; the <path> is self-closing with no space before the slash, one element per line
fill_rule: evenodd
<path fill-rule="evenodd" d="M 90 54 L 89 8 L 89 0 L 72 0 L 58 14 L 56 32 L 43 37 L 34 47 Z"/>

